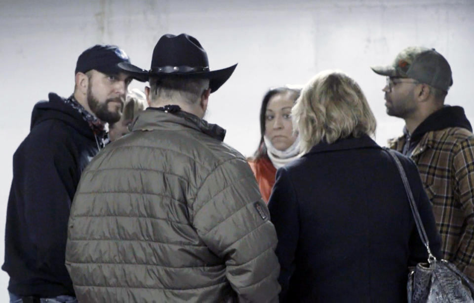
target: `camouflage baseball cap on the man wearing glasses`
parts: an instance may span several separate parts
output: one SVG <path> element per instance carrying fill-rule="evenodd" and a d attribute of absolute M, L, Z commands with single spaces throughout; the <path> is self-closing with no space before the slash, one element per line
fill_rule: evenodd
<path fill-rule="evenodd" d="M 434 48 L 410 46 L 396 55 L 391 66 L 370 68 L 379 75 L 415 79 L 446 92 L 453 85 L 449 63 Z"/>

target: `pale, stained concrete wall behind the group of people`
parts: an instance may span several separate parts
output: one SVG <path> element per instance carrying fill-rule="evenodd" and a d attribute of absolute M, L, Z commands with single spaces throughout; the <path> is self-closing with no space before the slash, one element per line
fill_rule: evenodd
<path fill-rule="evenodd" d="M 207 120 L 226 128 L 225 141 L 250 155 L 266 90 L 304 84 L 327 68 L 360 84 L 378 121 L 379 144 L 399 135 L 403 122 L 385 114 L 385 78 L 369 66 L 389 64 L 409 45 L 435 47 L 447 58 L 454 85 L 446 102 L 464 106 L 474 121 L 473 15 L 473 0 L 2 0 L 0 235 L 11 159 L 29 132 L 31 109 L 48 92 L 72 93 L 77 57 L 95 43 L 117 44 L 132 63 L 149 68 L 158 38 L 185 32 L 207 50 L 211 69 L 238 63 L 211 95 Z M 1 272 L 2 301 L 7 281 Z"/>

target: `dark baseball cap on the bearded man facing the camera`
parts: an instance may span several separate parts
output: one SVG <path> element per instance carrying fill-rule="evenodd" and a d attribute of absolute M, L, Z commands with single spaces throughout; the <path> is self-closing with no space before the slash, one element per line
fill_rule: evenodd
<path fill-rule="evenodd" d="M 117 74 L 122 72 L 117 66 L 121 62 L 130 63 L 130 58 L 121 48 L 96 44 L 79 55 L 75 73 L 95 69 L 105 74 Z"/>

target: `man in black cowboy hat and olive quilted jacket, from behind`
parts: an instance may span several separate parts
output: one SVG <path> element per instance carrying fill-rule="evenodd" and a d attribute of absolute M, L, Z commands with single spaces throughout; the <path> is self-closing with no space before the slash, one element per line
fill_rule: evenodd
<path fill-rule="evenodd" d="M 82 174 L 66 266 L 82 302 L 273 302 L 276 232 L 252 170 L 202 119 L 236 65 L 211 71 L 196 38 L 163 35 L 150 106 Z"/>

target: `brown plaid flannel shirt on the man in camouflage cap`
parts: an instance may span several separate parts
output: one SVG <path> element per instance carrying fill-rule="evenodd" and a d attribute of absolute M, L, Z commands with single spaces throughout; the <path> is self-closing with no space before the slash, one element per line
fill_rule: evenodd
<path fill-rule="evenodd" d="M 399 152 L 404 136 L 389 140 Z M 427 132 L 410 158 L 433 204 L 443 258 L 474 280 L 474 135 L 460 127 Z"/>

